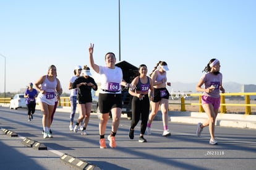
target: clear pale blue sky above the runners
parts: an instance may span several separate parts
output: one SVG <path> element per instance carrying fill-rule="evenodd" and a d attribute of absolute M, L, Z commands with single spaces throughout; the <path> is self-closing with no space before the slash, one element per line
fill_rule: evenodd
<path fill-rule="evenodd" d="M 74 67 L 88 64 L 91 42 L 96 64 L 105 65 L 109 51 L 118 61 L 118 0 L 2 0 L 0 7 L 6 91 L 35 82 L 54 64 L 69 93 Z M 166 61 L 169 82 L 193 83 L 208 61 L 218 58 L 223 85 L 256 84 L 255 7 L 254 0 L 121 0 L 121 60 L 146 64 L 149 73 L 158 61 Z M 4 57 L 0 56 L 3 91 Z"/>

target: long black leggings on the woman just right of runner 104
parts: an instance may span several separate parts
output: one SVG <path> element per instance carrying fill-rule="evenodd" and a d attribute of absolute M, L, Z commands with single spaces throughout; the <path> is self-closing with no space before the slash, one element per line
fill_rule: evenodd
<path fill-rule="evenodd" d="M 150 100 L 148 95 L 145 95 L 143 100 L 139 100 L 138 97 L 134 96 L 132 98 L 132 121 L 130 122 L 130 129 L 134 129 L 140 121 L 141 116 L 142 123 L 140 124 L 140 134 L 144 135 L 147 129 L 149 111 Z"/>

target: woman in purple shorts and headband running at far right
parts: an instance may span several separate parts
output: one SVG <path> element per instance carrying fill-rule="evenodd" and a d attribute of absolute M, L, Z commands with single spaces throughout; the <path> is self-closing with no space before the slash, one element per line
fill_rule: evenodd
<path fill-rule="evenodd" d="M 220 108 L 220 90 L 222 93 L 225 92 L 222 87 L 222 74 L 220 73 L 220 61 L 218 59 L 211 59 L 207 64 L 203 72 L 206 74 L 200 78 L 196 90 L 202 91 L 202 106 L 207 113 L 208 119 L 203 123 L 197 125 L 197 136 L 200 137 L 203 127 L 209 126 L 210 132 L 210 144 L 217 145 L 218 142 L 215 138 L 215 120 Z M 202 85 L 205 88 L 202 88 Z"/>

